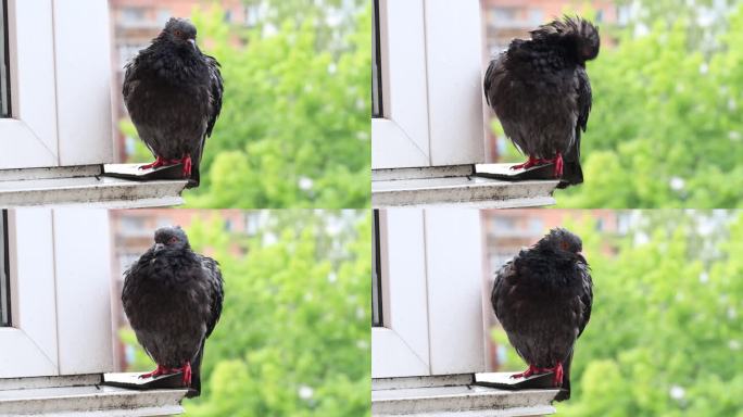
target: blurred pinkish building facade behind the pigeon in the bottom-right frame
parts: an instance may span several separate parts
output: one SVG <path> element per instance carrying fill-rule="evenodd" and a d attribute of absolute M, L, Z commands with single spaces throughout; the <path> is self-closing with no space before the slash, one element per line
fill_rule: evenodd
<path fill-rule="evenodd" d="M 490 307 L 490 292 L 493 288 L 495 273 L 516 255 L 521 249 L 531 247 L 550 229 L 563 227 L 570 220 L 579 222 L 588 216 L 595 222 L 595 228 L 607 238 L 624 236 L 628 232 L 631 213 L 613 210 L 571 211 L 571 210 L 489 210 L 481 211 L 486 266 L 483 268 L 484 293 L 487 294 L 486 328 L 498 326 L 495 315 Z M 604 242 L 602 252 L 615 254 L 616 248 L 610 240 Z M 587 253 L 587 257 L 591 254 Z M 500 348 L 486 332 L 488 369 L 499 369 L 505 349 Z"/>

